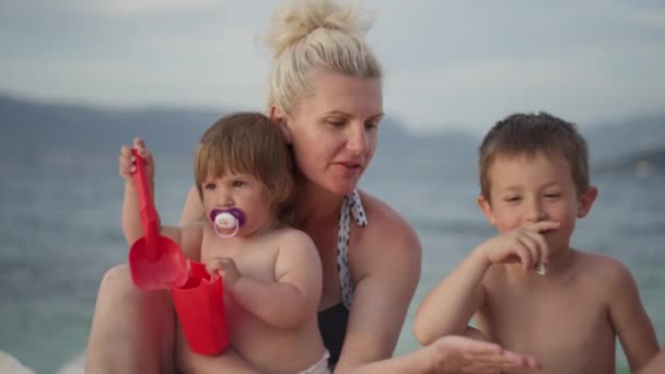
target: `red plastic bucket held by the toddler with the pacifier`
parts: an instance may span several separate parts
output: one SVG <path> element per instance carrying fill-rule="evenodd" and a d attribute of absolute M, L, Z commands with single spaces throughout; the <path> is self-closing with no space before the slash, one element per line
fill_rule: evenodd
<path fill-rule="evenodd" d="M 190 264 L 189 279 L 185 285 L 171 289 L 171 297 L 189 349 L 218 354 L 229 347 L 222 278 L 211 279 L 203 264 Z"/>

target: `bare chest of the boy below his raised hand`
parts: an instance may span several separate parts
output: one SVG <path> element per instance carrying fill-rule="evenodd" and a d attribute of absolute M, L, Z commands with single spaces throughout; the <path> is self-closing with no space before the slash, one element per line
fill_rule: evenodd
<path fill-rule="evenodd" d="M 478 322 L 492 341 L 538 358 L 544 373 L 614 372 L 615 331 L 607 303 L 588 284 L 549 287 L 547 292 L 497 284 Z"/>

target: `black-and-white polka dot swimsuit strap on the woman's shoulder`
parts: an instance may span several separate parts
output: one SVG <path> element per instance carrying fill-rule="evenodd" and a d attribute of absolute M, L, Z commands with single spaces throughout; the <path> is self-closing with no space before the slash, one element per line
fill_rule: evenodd
<path fill-rule="evenodd" d="M 368 225 L 368 217 L 360 201 L 358 189 L 345 196 L 339 215 L 339 233 L 337 234 L 337 273 L 341 285 L 341 300 L 347 308 L 351 308 L 353 288 L 351 273 L 349 272 L 349 236 L 351 234 L 351 215 L 355 224 L 364 227 Z"/>

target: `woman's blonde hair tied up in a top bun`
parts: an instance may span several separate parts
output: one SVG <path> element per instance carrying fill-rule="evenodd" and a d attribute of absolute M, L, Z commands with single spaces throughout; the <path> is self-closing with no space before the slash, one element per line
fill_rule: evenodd
<path fill-rule="evenodd" d="M 268 75 L 268 107 L 293 114 L 313 92 L 313 72 L 325 70 L 345 77 L 381 79 L 378 60 L 364 35 L 372 20 L 353 4 L 331 0 L 294 0 L 279 7 L 267 43 L 273 66 Z"/>

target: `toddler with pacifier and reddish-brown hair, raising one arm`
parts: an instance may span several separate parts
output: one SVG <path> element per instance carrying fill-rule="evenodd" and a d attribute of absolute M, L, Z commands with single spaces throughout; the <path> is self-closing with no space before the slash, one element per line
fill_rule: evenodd
<path fill-rule="evenodd" d="M 152 156 L 140 139 L 135 148 L 152 180 Z M 133 162 L 124 147 L 122 229 L 130 244 L 143 235 Z M 180 358 L 186 372 L 201 372 L 211 360 L 215 370 L 228 369 L 229 357 L 240 354 L 261 373 L 329 373 L 316 318 L 320 260 L 312 239 L 288 225 L 295 192 L 292 163 L 280 129 L 258 113 L 223 117 L 201 138 L 195 174 L 206 214 L 197 224 L 162 232 L 187 257 L 223 277 L 230 351 Z M 182 344 L 179 334 L 176 346 Z"/>

